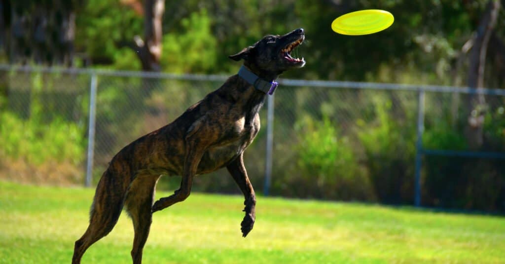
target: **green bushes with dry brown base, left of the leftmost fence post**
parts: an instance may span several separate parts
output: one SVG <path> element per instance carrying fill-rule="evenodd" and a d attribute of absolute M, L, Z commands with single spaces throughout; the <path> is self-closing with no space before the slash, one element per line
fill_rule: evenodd
<path fill-rule="evenodd" d="M 15 73 L 10 77 L 19 79 Z M 34 73 L 31 85 L 10 84 L 4 99 L 8 107 L 0 111 L 2 177 L 45 184 L 82 179 L 87 143 L 83 97 L 79 90 L 58 93 L 69 79 L 53 77 Z"/>

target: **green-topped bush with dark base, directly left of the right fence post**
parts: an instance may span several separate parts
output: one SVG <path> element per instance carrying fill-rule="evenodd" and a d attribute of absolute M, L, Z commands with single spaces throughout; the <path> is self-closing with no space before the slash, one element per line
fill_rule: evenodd
<path fill-rule="evenodd" d="M 374 101 L 376 120 L 358 123 L 358 137 L 378 198 L 387 203 L 409 202 L 413 197 L 415 119 L 393 117 L 389 98 Z M 408 110 L 407 110 L 408 111 Z"/>

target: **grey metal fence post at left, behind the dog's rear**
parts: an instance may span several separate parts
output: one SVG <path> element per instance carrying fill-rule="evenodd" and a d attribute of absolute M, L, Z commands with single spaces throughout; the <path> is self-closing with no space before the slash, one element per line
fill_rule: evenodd
<path fill-rule="evenodd" d="M 88 157 L 86 164 L 86 187 L 91 186 L 93 174 L 94 134 L 96 119 L 96 73 L 91 74 L 91 87 L 89 92 L 89 127 L 88 127 Z"/>

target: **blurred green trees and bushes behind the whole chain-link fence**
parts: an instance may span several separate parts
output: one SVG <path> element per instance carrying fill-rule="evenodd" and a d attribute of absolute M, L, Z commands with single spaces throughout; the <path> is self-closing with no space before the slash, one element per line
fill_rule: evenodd
<path fill-rule="evenodd" d="M 145 3 L 151 2 L 156 1 Z M 228 55 L 265 34 L 303 27 L 307 40 L 297 52 L 298 57 L 306 58 L 307 66 L 282 77 L 474 87 L 471 76 L 479 53 L 472 53 L 477 50 L 472 45 L 479 43 L 479 28 L 489 24 L 491 4 L 502 2 L 165 1 L 161 56 L 158 66 L 149 70 L 232 74 L 240 64 L 230 61 Z M 0 60 L 14 65 L 145 70 L 139 43 L 150 36 L 145 32 L 143 7 L 134 0 L 4 1 L 0 5 Z M 365 36 L 331 31 L 331 21 L 337 16 L 370 8 L 390 11 L 395 23 Z M 505 11 L 497 8 L 496 12 L 487 60 L 481 63 L 485 66 L 483 83 L 478 86 L 503 89 Z M 73 75 L 0 74 L 3 177 L 80 183 L 89 80 Z M 30 81 L 20 82 L 23 79 Z M 95 175 L 128 141 L 171 121 L 219 85 L 123 77 L 100 80 L 97 141 L 107 144 L 97 145 Z M 301 87 L 276 92 L 276 109 L 291 108 L 276 112 L 272 193 L 412 203 L 417 95 L 315 90 Z M 26 98 L 29 100 L 23 101 Z M 428 94 L 425 147 L 505 151 L 504 99 L 475 101 L 473 96 Z M 469 134 L 472 118 L 482 120 L 481 141 Z M 264 164 L 262 158 L 253 157 L 263 157 L 264 139 L 263 130 L 247 153 L 251 157 L 247 167 L 256 186 L 263 181 Z M 423 203 L 503 212 L 504 164 L 497 159 L 426 157 Z M 60 176 L 44 176 L 55 167 Z M 236 193 L 232 180 L 220 174 L 199 178 L 196 190 Z M 177 179 L 170 179 L 161 187 L 172 189 L 177 184 Z"/>

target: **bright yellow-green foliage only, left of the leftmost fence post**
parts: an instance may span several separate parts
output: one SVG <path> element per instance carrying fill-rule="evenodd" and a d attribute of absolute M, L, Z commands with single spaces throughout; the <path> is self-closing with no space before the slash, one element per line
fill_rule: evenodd
<path fill-rule="evenodd" d="M 51 109 L 51 103 L 43 100 L 43 92 L 51 90 L 46 86 L 52 85 L 51 80 L 37 73 L 32 75 L 31 81 L 29 115 L 23 118 L 10 110 L 0 112 L 0 155 L 13 160 L 25 159 L 35 165 L 48 161 L 81 164 L 86 144 L 82 125 L 65 120 L 65 113 L 54 109 L 46 112 Z"/>

